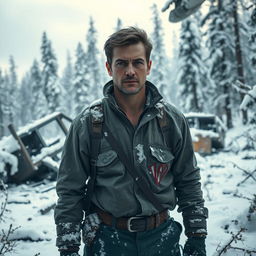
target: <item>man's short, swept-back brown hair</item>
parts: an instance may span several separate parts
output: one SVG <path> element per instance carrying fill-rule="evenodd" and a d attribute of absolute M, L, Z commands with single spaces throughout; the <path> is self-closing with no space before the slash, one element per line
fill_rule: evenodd
<path fill-rule="evenodd" d="M 152 44 L 147 36 L 147 33 L 140 28 L 128 27 L 123 28 L 112 34 L 105 42 L 104 50 L 107 57 L 107 62 L 111 65 L 113 58 L 113 49 L 115 47 L 128 46 L 142 42 L 146 51 L 146 60 L 149 62 Z"/>

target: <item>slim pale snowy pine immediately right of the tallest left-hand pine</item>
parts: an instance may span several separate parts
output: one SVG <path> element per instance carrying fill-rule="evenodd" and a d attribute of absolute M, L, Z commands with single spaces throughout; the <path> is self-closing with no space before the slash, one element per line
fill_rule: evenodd
<path fill-rule="evenodd" d="M 73 66 L 69 51 L 67 52 L 67 63 L 61 79 L 61 84 L 64 89 L 63 103 L 64 111 L 67 115 L 74 114 L 74 88 L 73 88 Z"/>

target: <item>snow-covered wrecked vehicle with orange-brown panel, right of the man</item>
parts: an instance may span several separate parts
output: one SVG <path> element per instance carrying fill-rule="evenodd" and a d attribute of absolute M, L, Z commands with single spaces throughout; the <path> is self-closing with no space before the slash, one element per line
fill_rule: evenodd
<path fill-rule="evenodd" d="M 195 152 L 210 154 L 224 147 L 227 128 L 215 115 L 204 113 L 185 114 Z"/>

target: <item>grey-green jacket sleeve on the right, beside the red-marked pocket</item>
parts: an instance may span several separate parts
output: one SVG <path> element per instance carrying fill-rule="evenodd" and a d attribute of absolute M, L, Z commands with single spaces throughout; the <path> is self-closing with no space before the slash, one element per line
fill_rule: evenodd
<path fill-rule="evenodd" d="M 178 212 L 182 212 L 187 236 L 206 235 L 208 210 L 204 207 L 200 170 L 197 167 L 189 126 L 183 115 L 179 126 L 180 138 L 175 147 L 173 164 Z"/>

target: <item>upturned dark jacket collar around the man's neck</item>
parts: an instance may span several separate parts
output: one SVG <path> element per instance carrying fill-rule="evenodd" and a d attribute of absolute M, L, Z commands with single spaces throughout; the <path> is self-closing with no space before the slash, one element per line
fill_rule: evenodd
<path fill-rule="evenodd" d="M 109 100 L 112 103 L 117 105 L 114 98 L 113 80 L 109 81 L 104 85 L 103 95 L 105 98 L 109 98 Z M 146 95 L 147 99 L 145 107 L 153 107 L 163 98 L 162 95 L 159 93 L 158 89 L 156 88 L 156 86 L 149 81 L 146 81 Z"/>

